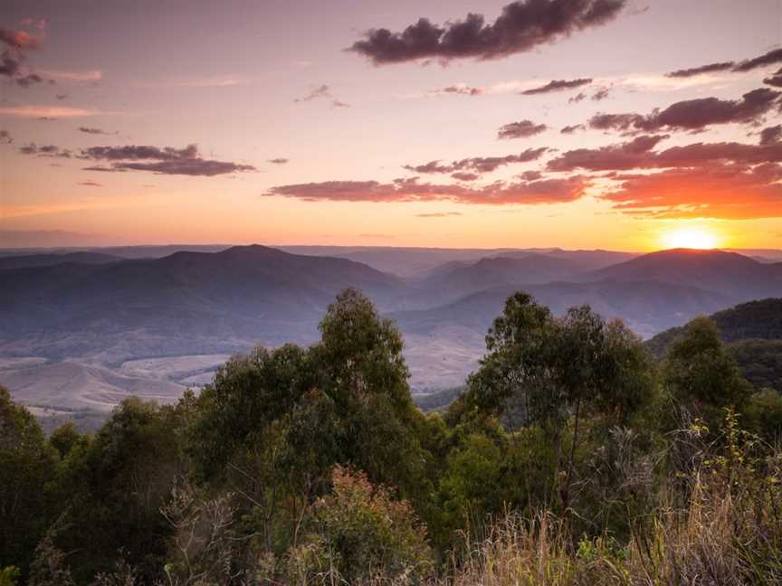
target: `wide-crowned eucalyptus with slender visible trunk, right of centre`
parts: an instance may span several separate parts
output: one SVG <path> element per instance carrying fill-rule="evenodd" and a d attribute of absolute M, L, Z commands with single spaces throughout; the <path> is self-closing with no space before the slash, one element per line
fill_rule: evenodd
<path fill-rule="evenodd" d="M 559 497 L 567 509 L 585 416 L 627 421 L 652 397 L 651 363 L 643 345 L 622 323 L 606 324 L 588 306 L 552 317 L 518 292 L 494 320 L 486 347 L 464 402 L 478 413 L 501 415 L 511 430 L 530 424 L 546 430 L 564 465 Z M 570 441 L 563 450 L 568 420 Z"/>

